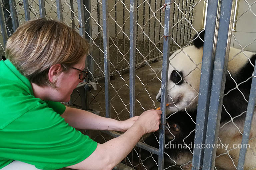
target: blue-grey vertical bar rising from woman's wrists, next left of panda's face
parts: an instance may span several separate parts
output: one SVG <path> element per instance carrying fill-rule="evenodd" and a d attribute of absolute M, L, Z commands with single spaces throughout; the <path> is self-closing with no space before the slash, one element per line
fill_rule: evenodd
<path fill-rule="evenodd" d="M 135 113 L 136 6 L 130 0 L 130 118 Z"/>

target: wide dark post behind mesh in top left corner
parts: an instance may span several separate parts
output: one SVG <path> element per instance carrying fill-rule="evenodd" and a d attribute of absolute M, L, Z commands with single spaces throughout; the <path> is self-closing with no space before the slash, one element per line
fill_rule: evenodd
<path fill-rule="evenodd" d="M 7 37 L 10 37 L 13 34 L 12 29 L 12 18 L 10 17 L 10 5 L 9 0 L 2 0 L 3 2 L 3 11 L 4 11 L 4 20 L 6 25 Z"/>

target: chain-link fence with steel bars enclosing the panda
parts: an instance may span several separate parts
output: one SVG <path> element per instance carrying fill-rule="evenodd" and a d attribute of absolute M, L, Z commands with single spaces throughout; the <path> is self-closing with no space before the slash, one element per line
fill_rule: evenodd
<path fill-rule="evenodd" d="M 131 2 L 135 7 L 133 12 Z M 2 0 L 2 55 L 8 37 L 26 20 L 44 17 L 63 21 L 80 32 L 92 46 L 87 57 L 90 74 L 86 82 L 90 84 L 84 83 L 85 86 L 80 85 L 73 92 L 70 105 L 101 116 L 125 120 L 130 115 L 137 116 L 145 110 L 159 107 L 157 100 L 161 96 L 161 82 L 166 86 L 166 90 L 162 88 L 167 96 L 162 96 L 161 106 L 166 103 L 170 106 L 167 111 L 162 107 L 163 113 L 167 114 L 163 114 L 160 131 L 143 136 L 138 146 L 122 161 L 123 164 L 147 170 L 255 168 L 255 121 L 252 119 L 251 133 L 248 132 L 250 126 L 244 128 L 244 122 L 254 77 L 255 56 L 247 51 L 255 52 L 256 1 L 238 0 L 232 4 L 232 0 L 219 3 L 208 3 L 207 0 L 110 0 L 104 9 L 105 3 L 104 0 Z M 106 13 L 108 25 L 104 28 Z M 135 16 L 134 48 L 130 42 L 130 15 Z M 236 23 L 236 31 L 232 34 L 228 30 L 233 27 L 233 17 L 230 19 L 230 16 L 234 16 Z M 200 32 L 203 17 L 207 18 L 205 33 Z M 108 31 L 109 35 L 104 31 Z M 194 34 L 197 36 L 192 38 Z M 204 51 L 200 46 L 202 40 L 205 40 Z M 196 48 L 193 43 L 199 44 L 199 47 Z M 226 46 L 228 52 L 222 48 Z M 229 51 L 230 46 L 238 50 L 231 48 Z M 134 60 L 130 60 L 131 50 L 134 51 Z M 173 52 L 169 58 L 169 53 Z M 107 54 L 108 61 L 104 60 L 104 54 Z M 225 55 L 228 66 L 227 59 L 223 57 Z M 134 62 L 134 79 L 129 75 L 132 72 L 131 61 Z M 109 67 L 106 67 L 108 62 Z M 108 78 L 110 81 L 106 81 Z M 134 96 L 132 87 L 135 87 Z M 223 95 L 224 98 L 221 97 Z M 254 104 L 252 101 L 253 110 L 254 105 L 255 101 Z M 250 122 L 249 117 L 246 121 Z M 243 132 L 246 134 L 243 135 Z M 120 135 L 95 130 L 86 133 L 97 142 Z M 247 155 L 244 152 L 246 149 L 241 149 L 239 159 L 240 148 L 233 147 L 233 144 L 241 144 L 242 137 L 243 143 L 248 143 L 246 136 L 251 147 L 247 149 Z M 196 147 L 197 144 L 200 146 Z M 220 144 L 221 148 L 211 144 Z"/>

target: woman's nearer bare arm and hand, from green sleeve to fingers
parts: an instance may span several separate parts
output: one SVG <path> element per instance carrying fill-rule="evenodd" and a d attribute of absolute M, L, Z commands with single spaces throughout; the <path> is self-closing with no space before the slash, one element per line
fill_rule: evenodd
<path fill-rule="evenodd" d="M 159 129 L 161 114 L 160 110 L 144 112 L 124 134 L 103 144 L 98 144 L 96 150 L 88 158 L 67 168 L 79 170 L 113 169 L 131 152 L 143 134 Z"/>

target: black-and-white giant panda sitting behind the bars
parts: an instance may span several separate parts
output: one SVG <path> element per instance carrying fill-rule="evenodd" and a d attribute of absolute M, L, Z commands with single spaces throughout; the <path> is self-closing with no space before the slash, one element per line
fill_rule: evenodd
<path fill-rule="evenodd" d="M 169 58 L 167 85 L 169 106 L 167 106 L 166 122 L 179 127 L 178 130 L 170 128 L 171 130 L 166 133 L 167 138 L 174 134 L 175 137 L 171 141 L 169 140 L 171 143 L 189 144 L 194 142 L 204 45 L 202 40 L 204 40 L 204 30 L 193 37 L 193 45 L 175 51 Z M 219 129 L 220 140 L 218 140 L 220 144 L 226 144 L 226 146 L 228 144 L 229 148 L 217 149 L 215 166 L 219 169 L 236 170 L 238 164 L 240 149 L 233 148 L 233 146 L 238 146 L 242 141 L 255 58 L 255 53 L 230 48 Z M 156 96 L 157 100 L 160 98 L 161 89 Z M 256 116 L 252 120 L 249 137 L 250 148 L 247 149 L 245 170 L 256 167 L 255 128 Z M 150 141 L 150 138 L 148 140 Z M 165 152 L 172 158 L 165 155 L 165 166 L 175 163 L 177 165 L 187 164 L 183 169 L 191 168 L 188 165 L 191 165 L 192 162 L 193 148 L 165 148 Z"/>

